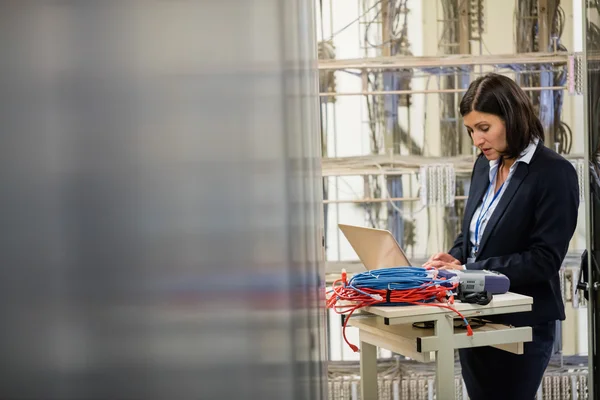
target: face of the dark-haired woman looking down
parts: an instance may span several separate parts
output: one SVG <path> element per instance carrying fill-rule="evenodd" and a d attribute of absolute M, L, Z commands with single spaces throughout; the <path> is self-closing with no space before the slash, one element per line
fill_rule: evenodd
<path fill-rule="evenodd" d="M 506 126 L 500 117 L 471 111 L 463 117 L 467 131 L 488 160 L 497 160 L 506 151 Z"/>

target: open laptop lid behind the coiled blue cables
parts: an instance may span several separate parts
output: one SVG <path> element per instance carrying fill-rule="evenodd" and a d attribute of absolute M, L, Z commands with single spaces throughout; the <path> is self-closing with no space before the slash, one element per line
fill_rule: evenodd
<path fill-rule="evenodd" d="M 369 271 L 411 266 L 408 257 L 390 231 L 344 224 L 338 226 Z"/>

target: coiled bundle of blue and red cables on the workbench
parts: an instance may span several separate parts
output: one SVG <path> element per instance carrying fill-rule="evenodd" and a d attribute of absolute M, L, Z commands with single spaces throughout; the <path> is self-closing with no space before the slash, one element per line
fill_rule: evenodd
<path fill-rule="evenodd" d="M 442 277 L 437 269 L 422 267 L 382 268 L 354 275 L 350 281 L 345 270 L 333 282 L 328 292 L 327 308 L 338 314 L 347 314 L 342 334 L 344 341 L 354 352 L 358 347 L 346 338 L 346 326 L 354 311 L 369 306 L 425 305 L 447 308 L 464 321 L 467 335 L 473 335 L 467 319 L 458 312 L 454 304 L 454 291 L 458 288 L 458 277 Z"/>

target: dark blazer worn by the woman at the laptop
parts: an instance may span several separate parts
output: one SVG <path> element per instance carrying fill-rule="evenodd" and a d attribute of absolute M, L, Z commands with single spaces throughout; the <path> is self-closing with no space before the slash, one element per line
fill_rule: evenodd
<path fill-rule="evenodd" d="M 489 186 L 489 162 L 480 155 L 462 224 L 449 253 L 466 263 L 471 251 L 469 227 Z M 533 297 L 531 312 L 494 316 L 514 326 L 564 320 L 558 271 L 577 225 L 577 172 L 540 141 L 529 164 L 520 162 L 488 221 L 477 258 L 467 269 L 498 271 L 510 279 L 510 291 Z"/>

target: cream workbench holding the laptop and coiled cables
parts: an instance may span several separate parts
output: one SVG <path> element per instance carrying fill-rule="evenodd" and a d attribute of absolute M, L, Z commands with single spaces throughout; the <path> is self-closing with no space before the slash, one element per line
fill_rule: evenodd
<path fill-rule="evenodd" d="M 485 305 L 456 302 L 454 308 L 466 318 L 510 314 L 531 310 L 533 299 L 516 293 L 495 295 Z M 493 346 L 523 354 L 531 341 L 531 327 L 511 327 L 486 323 L 467 336 L 466 329 L 455 328 L 458 315 L 448 309 L 415 306 L 366 307 L 348 324 L 358 328 L 360 338 L 360 377 L 362 400 L 377 400 L 377 347 L 421 362 L 436 363 L 436 399 L 455 398 L 454 351 L 469 347 Z M 413 326 L 433 322 L 433 329 Z"/>

